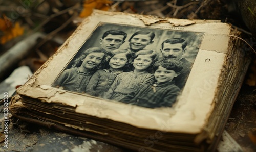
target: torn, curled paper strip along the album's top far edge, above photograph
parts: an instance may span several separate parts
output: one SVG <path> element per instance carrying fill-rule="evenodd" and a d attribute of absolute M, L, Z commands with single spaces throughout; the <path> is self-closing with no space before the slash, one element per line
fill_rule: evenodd
<path fill-rule="evenodd" d="M 146 26 L 150 26 L 151 24 L 156 22 L 168 22 L 176 27 L 188 26 L 196 23 L 196 21 L 194 20 L 185 20 L 185 19 L 176 19 L 176 18 L 160 18 L 156 16 L 142 16 L 142 15 L 138 15 L 137 17 L 140 20 L 142 20 Z"/>

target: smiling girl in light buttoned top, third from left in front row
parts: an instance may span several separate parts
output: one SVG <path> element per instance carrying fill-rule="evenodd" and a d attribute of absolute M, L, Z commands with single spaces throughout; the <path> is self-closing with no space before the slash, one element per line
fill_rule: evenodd
<path fill-rule="evenodd" d="M 139 85 L 153 80 L 153 74 L 148 73 L 147 69 L 154 64 L 157 58 L 158 54 L 154 50 L 136 52 L 132 60 L 134 70 L 117 75 L 109 91 L 104 93 L 103 98 L 119 101 L 136 90 Z"/>

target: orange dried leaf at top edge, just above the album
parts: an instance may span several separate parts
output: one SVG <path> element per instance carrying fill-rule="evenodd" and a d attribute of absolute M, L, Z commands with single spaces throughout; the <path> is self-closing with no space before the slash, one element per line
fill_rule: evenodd
<path fill-rule="evenodd" d="M 110 0 L 85 0 L 83 4 L 83 10 L 80 13 L 80 17 L 87 17 L 92 14 L 93 9 L 108 11 L 112 1 Z"/>

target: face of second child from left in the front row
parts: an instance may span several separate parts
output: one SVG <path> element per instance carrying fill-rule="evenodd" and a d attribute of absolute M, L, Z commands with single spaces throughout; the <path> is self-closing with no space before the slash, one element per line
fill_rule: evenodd
<path fill-rule="evenodd" d="M 125 54 L 116 54 L 110 59 L 109 65 L 112 70 L 119 69 L 124 67 L 127 61 Z"/>

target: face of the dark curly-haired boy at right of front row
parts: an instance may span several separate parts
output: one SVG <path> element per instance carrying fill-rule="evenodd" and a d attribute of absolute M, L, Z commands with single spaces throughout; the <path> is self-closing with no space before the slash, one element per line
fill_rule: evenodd
<path fill-rule="evenodd" d="M 167 70 L 166 68 L 159 66 L 154 73 L 157 83 L 171 82 L 174 77 L 177 77 L 178 74 L 174 70 Z"/>

